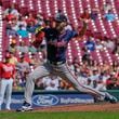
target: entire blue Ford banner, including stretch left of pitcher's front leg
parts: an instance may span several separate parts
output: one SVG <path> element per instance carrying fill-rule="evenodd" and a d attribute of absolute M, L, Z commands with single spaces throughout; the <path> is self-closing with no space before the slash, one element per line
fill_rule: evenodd
<path fill-rule="evenodd" d="M 11 108 L 16 109 L 22 106 L 24 102 L 23 94 L 13 94 Z M 34 94 L 32 107 L 47 107 L 71 104 L 90 104 L 94 103 L 93 96 L 89 94 Z M 3 106 L 4 108 L 4 106 Z"/>

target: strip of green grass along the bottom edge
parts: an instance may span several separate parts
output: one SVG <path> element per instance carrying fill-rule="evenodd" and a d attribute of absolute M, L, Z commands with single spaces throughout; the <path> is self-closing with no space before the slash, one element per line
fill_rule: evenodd
<path fill-rule="evenodd" d="M 117 113 L 0 113 L 0 119 L 119 119 Z"/>

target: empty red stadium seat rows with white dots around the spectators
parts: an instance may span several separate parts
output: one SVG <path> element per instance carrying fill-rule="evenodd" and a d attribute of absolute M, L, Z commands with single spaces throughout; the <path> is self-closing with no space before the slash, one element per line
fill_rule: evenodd
<path fill-rule="evenodd" d="M 108 36 L 110 38 L 116 38 L 119 36 L 119 0 L 109 0 L 113 5 L 113 12 L 116 15 L 115 22 L 105 22 L 102 19 L 103 12 L 101 11 L 101 6 L 104 5 L 106 0 L 0 0 L 0 60 L 4 56 L 4 51 L 11 42 L 11 36 L 6 37 L 5 35 L 5 22 L 2 21 L 2 11 L 9 8 L 12 3 L 15 3 L 16 9 L 22 14 L 26 14 L 28 12 L 36 15 L 38 12 L 43 13 L 45 16 L 53 16 L 58 9 L 62 9 L 63 12 L 68 16 L 69 22 L 71 24 L 78 25 L 78 17 L 81 13 L 83 13 L 83 9 L 88 8 L 91 12 L 92 8 L 97 8 L 100 10 L 98 17 L 96 22 L 91 21 L 89 24 L 89 29 L 92 32 L 101 32 L 103 36 Z M 17 38 L 17 43 L 22 39 Z M 27 38 L 27 43 L 31 40 L 31 35 Z M 71 40 L 68 44 L 67 50 L 67 58 L 72 61 L 74 57 L 78 57 L 80 63 L 82 63 L 81 58 L 83 55 L 82 47 L 87 41 L 87 36 L 83 37 L 83 40 L 77 41 Z M 28 54 L 30 55 L 30 53 Z M 40 57 L 42 54 L 39 53 Z M 98 61 L 107 61 L 111 64 L 113 61 L 119 62 L 119 55 L 113 54 L 107 48 L 103 51 L 95 50 L 91 52 L 91 56 L 93 60 Z"/>

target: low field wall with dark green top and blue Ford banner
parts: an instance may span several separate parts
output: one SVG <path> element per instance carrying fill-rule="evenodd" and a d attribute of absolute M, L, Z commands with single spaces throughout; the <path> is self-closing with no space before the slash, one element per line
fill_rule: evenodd
<path fill-rule="evenodd" d="M 119 100 L 119 90 L 108 91 Z M 22 106 L 24 102 L 24 92 L 13 92 L 11 108 L 16 109 Z M 35 91 L 32 95 L 34 107 L 49 107 L 58 105 L 74 105 L 74 104 L 91 104 L 94 98 L 90 94 L 79 93 L 77 91 Z M 4 108 L 4 105 L 3 107 Z"/>

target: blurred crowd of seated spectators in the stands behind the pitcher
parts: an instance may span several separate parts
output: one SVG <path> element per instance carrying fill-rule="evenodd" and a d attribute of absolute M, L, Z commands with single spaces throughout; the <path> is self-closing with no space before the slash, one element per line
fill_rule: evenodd
<path fill-rule="evenodd" d="M 64 14 L 64 11 L 58 9 L 54 16 L 62 14 Z M 10 63 L 15 65 L 16 72 L 13 90 L 23 90 L 27 75 L 47 61 L 45 38 L 38 48 L 32 45 L 32 41 L 35 40 L 37 28 L 49 27 L 49 22 L 52 17 L 52 15 L 47 16 L 42 12 L 32 13 L 25 12 L 25 10 L 22 12 L 21 8 L 18 9 L 15 3 L 11 3 L 10 6 L 3 9 L 2 21 L 4 23 L 5 48 L 2 55 L 4 57 L 9 53 L 11 56 Z M 81 19 L 87 18 L 96 23 L 98 17 L 104 23 L 109 22 L 113 24 L 117 21 L 109 0 L 101 9 L 92 8 L 91 12 L 89 12 L 88 8 L 84 8 L 83 12 L 78 16 L 79 24 L 76 25 L 68 22 L 66 28 L 74 29 L 77 27 L 80 29 Z M 81 38 L 82 40 L 78 39 L 79 42 L 72 39 L 77 49 L 70 48 L 71 44 L 69 45 L 67 64 L 81 83 L 102 91 L 119 89 L 119 30 L 116 37 L 110 37 L 103 35 L 100 31 L 100 27 L 97 29 L 97 31 L 94 31 L 88 28 L 84 38 Z M 81 53 L 79 55 L 68 55 L 70 50 L 74 49 L 75 52 L 71 51 L 72 54 L 79 50 Z M 47 91 L 75 90 L 70 83 L 58 76 L 42 78 L 42 80 L 36 82 L 36 89 Z"/>

